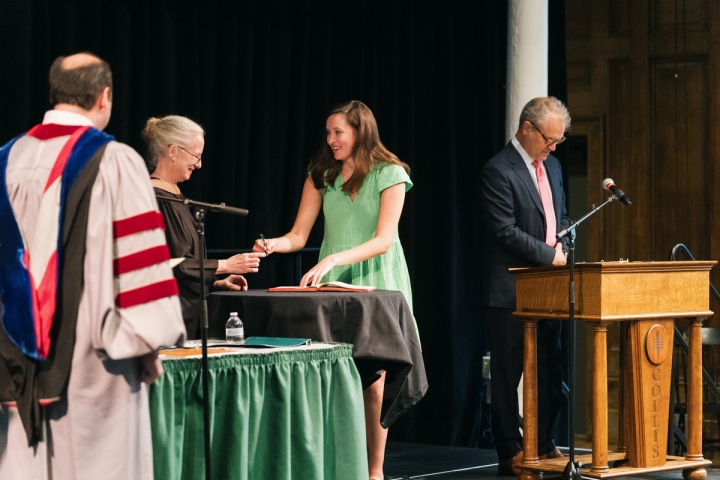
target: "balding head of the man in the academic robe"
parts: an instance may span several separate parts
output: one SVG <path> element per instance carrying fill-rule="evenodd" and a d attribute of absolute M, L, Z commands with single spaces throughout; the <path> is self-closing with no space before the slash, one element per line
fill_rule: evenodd
<path fill-rule="evenodd" d="M 112 71 L 91 53 L 58 57 L 50 67 L 50 104 L 55 110 L 84 115 L 98 130 L 110 121 Z"/>

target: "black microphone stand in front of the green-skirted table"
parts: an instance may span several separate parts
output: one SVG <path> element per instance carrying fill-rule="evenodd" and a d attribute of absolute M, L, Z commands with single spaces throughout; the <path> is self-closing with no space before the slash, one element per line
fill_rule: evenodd
<path fill-rule="evenodd" d="M 155 195 L 160 200 L 168 202 L 182 203 L 183 205 L 192 205 L 195 207 L 195 228 L 200 241 L 200 258 L 198 258 L 198 267 L 200 268 L 200 295 L 202 296 L 202 309 L 200 311 L 200 339 L 202 342 L 202 383 L 203 383 L 203 444 L 205 447 L 205 479 L 211 480 L 212 468 L 210 465 L 210 369 L 207 359 L 207 335 L 208 335 L 208 315 L 207 315 L 207 297 L 205 295 L 205 209 L 208 208 L 213 212 L 225 212 L 233 215 L 245 216 L 248 211 L 244 208 L 228 207 L 225 202 L 219 204 L 211 204 L 190 200 L 189 198 L 173 198 L 161 195 Z"/>

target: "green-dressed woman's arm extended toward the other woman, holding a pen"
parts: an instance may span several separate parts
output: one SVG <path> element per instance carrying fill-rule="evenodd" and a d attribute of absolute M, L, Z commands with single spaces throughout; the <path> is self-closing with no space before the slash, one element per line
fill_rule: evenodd
<path fill-rule="evenodd" d="M 300 250 L 307 243 L 310 231 L 320 213 L 320 207 L 322 207 L 322 193 L 315 188 L 312 180 L 308 177 L 303 185 L 300 207 L 292 230 L 282 237 L 266 238 L 265 243 L 261 239 L 255 240 L 253 251 L 267 251 L 269 255 L 274 252 L 287 253 Z"/>

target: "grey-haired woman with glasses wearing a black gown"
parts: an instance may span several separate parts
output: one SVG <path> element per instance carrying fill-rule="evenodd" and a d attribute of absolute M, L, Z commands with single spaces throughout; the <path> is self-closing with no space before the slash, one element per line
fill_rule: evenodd
<path fill-rule="evenodd" d="M 189 118 L 168 115 L 151 118 L 142 131 L 148 148 L 150 179 L 159 197 L 183 198 L 178 184 L 190 179 L 202 167 L 205 131 Z M 199 337 L 202 297 L 200 296 L 200 242 L 192 212 L 187 205 L 163 201 L 158 207 L 165 219 L 165 237 L 170 256 L 184 258 L 173 272 L 180 289 L 183 320 L 189 339 Z M 247 280 L 240 275 L 257 272 L 264 253 L 243 253 L 226 260 L 207 259 L 205 279 L 213 290 L 247 290 Z M 216 275 L 229 275 L 218 279 Z M 204 289 L 203 289 L 204 290 Z"/>

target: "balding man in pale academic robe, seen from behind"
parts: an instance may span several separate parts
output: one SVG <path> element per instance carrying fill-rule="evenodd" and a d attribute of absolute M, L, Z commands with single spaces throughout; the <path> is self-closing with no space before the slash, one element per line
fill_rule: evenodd
<path fill-rule="evenodd" d="M 60 57 L 0 149 L 0 478 L 151 479 L 147 384 L 185 329 L 142 158 L 102 132 L 112 73 Z"/>

